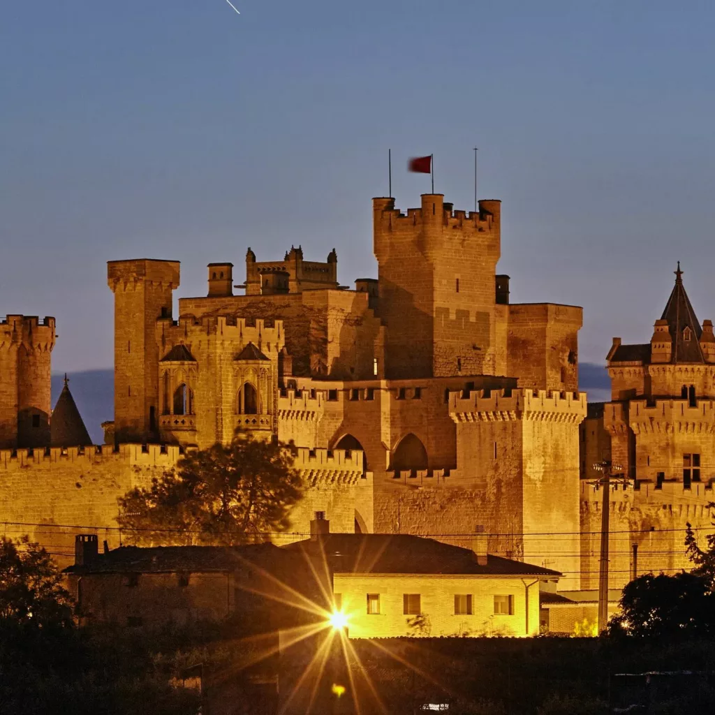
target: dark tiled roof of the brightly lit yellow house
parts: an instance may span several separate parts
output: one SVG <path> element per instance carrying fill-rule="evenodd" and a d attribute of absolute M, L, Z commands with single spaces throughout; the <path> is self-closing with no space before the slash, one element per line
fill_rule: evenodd
<path fill-rule="evenodd" d="M 284 546 L 322 558 L 336 573 L 467 573 L 484 576 L 561 576 L 550 568 L 487 556 L 480 566 L 470 548 L 408 534 L 336 533 Z"/>

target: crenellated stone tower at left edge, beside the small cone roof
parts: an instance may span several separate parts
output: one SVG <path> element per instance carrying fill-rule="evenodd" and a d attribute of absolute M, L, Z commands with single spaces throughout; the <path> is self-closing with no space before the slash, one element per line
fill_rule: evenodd
<path fill-rule="evenodd" d="M 49 445 L 54 317 L 0 322 L 0 448 Z"/>

